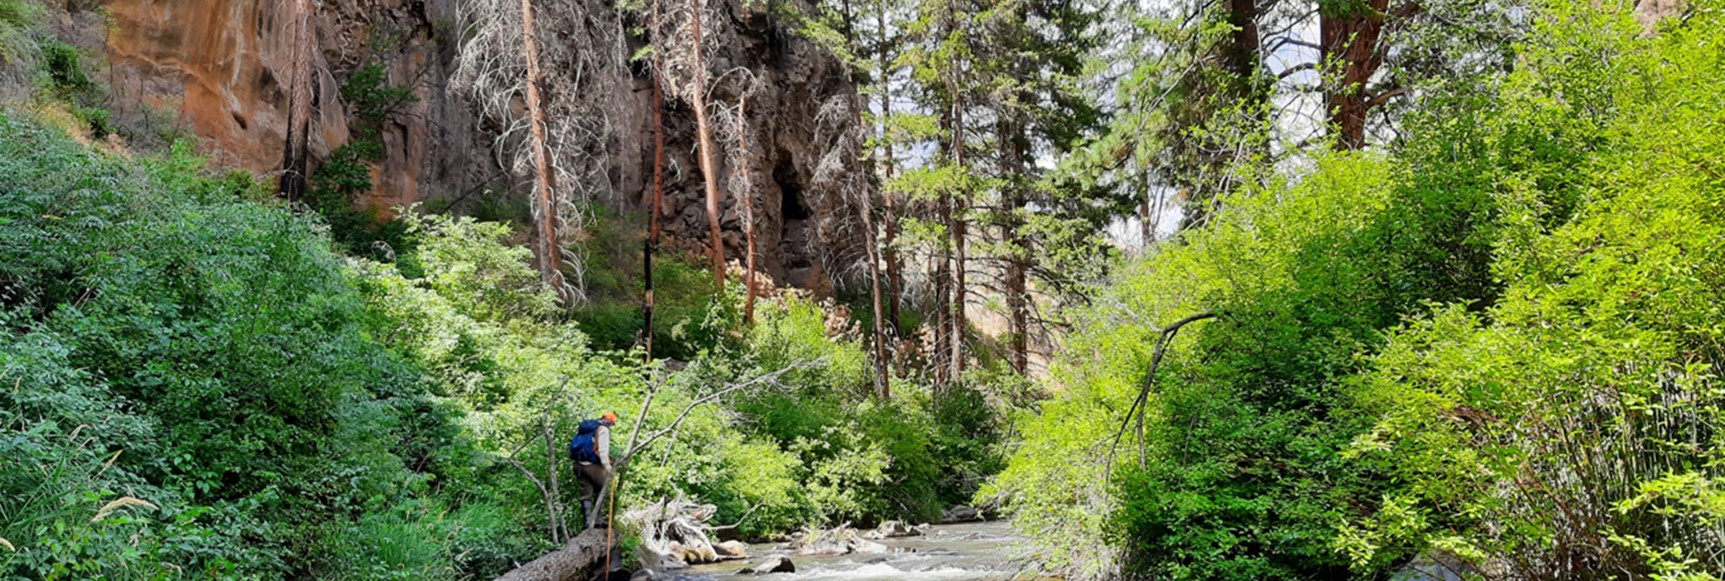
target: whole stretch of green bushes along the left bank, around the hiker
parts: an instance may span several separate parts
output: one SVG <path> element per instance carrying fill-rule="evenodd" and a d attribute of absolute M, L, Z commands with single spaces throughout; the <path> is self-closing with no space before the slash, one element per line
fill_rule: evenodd
<path fill-rule="evenodd" d="M 495 576 L 550 548 L 521 471 L 561 476 L 580 528 L 562 445 L 600 410 L 619 453 L 681 421 L 619 507 L 712 502 L 756 538 L 928 519 L 999 445 L 982 391 L 875 402 L 819 307 L 766 300 L 745 328 L 687 262 L 657 269 L 673 371 L 595 350 L 504 224 L 409 212 L 393 262 L 343 257 L 335 224 L 188 143 L 124 159 L 12 116 L 0 184 L 0 576 Z"/>

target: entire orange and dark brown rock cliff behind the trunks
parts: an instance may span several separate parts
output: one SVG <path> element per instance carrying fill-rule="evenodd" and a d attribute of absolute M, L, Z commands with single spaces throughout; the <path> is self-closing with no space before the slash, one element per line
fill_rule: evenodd
<path fill-rule="evenodd" d="M 583 0 L 540 2 L 543 38 L 580 45 L 593 19 L 626 29 L 626 16 L 595 17 L 593 10 L 573 10 L 573 2 Z M 100 22 L 100 29 L 86 22 L 83 36 L 86 45 L 97 45 L 86 48 L 107 55 L 116 116 L 171 110 L 205 138 L 217 164 L 273 174 L 283 157 L 292 55 L 283 5 L 279 0 L 107 0 L 107 22 L 86 19 Z M 609 3 L 600 7 L 612 10 Z M 812 10 L 807 3 L 792 9 Z M 711 69 L 759 78 L 749 102 L 747 140 L 762 269 L 790 284 L 830 288 L 835 276 L 828 272 L 845 272 L 859 260 L 861 233 L 850 226 L 857 222 L 850 203 L 833 188 L 816 186 L 816 169 L 828 153 L 821 141 L 828 136 L 819 134 L 814 119 L 823 103 L 854 95 L 856 86 L 837 59 L 790 33 L 769 10 L 745 9 L 738 0 L 716 0 L 709 10 L 726 16 L 707 22 L 721 48 L 711 57 Z M 571 22 L 571 14 L 588 22 Z M 499 155 L 497 138 L 507 131 L 507 119 L 488 119 L 474 102 L 450 90 L 464 33 L 455 0 L 323 0 L 316 31 L 314 166 L 348 140 L 352 114 L 342 103 L 340 86 L 359 67 L 380 62 L 392 83 L 411 84 L 419 97 L 383 128 L 385 159 L 373 169 L 376 188 L 362 203 L 388 209 L 442 200 L 461 210 L 485 190 L 523 190 L 523 176 L 509 171 L 507 155 Z M 633 52 L 640 45 L 640 38 L 619 38 L 614 50 Z M 576 52 L 547 53 L 552 55 L 545 62 L 547 93 L 552 100 L 568 98 L 557 88 L 578 84 L 561 76 L 580 71 L 555 57 Z M 618 62 L 626 59 L 618 55 Z M 600 93 L 611 100 L 604 109 L 612 112 L 612 136 L 597 155 L 607 167 L 599 183 L 583 184 L 597 193 L 595 203 L 621 214 L 643 212 L 652 176 L 652 93 L 643 74 L 640 66 L 630 66 L 602 86 Z M 737 86 L 714 83 L 711 98 L 735 105 Z M 706 216 L 693 119 L 688 105 L 669 95 L 664 129 L 668 245 L 699 248 L 706 241 Z M 721 145 L 726 152 L 733 148 L 735 143 Z M 740 209 L 728 193 L 735 155 L 721 155 L 721 164 L 728 257 L 740 257 Z"/>

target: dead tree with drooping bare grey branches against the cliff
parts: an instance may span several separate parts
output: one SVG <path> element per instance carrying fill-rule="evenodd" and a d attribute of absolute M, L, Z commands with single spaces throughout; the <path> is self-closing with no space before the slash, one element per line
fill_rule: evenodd
<path fill-rule="evenodd" d="M 605 88 L 626 81 L 621 16 L 592 0 L 536 10 L 533 0 L 457 0 L 461 50 L 450 90 L 493 133 L 497 166 L 531 186 L 535 260 L 564 302 L 585 298 L 586 207 L 616 188 L 611 160 L 626 103 Z M 569 31 L 543 43 L 542 31 Z"/>

